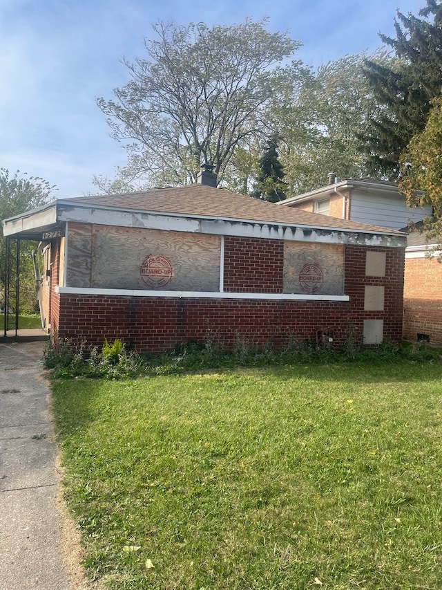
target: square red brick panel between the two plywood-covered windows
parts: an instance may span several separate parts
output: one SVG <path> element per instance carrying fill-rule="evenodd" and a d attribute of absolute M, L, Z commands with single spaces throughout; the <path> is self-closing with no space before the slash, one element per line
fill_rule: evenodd
<path fill-rule="evenodd" d="M 284 242 L 226 237 L 224 291 L 282 293 Z"/>

